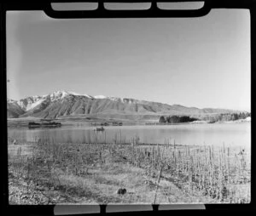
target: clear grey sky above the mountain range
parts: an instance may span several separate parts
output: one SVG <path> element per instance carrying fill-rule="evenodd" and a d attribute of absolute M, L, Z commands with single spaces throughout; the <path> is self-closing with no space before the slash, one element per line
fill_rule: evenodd
<path fill-rule="evenodd" d="M 7 97 L 56 90 L 250 111 L 250 14 L 56 20 L 7 13 Z"/>

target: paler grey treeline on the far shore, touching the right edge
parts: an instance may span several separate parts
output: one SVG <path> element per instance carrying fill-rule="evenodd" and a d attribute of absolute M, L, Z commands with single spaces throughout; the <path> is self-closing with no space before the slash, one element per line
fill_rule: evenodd
<path fill-rule="evenodd" d="M 222 113 L 215 116 L 202 117 L 202 120 L 213 122 L 227 122 L 227 121 L 236 121 L 239 119 L 245 119 L 251 117 L 249 112 L 240 112 L 240 113 Z"/>

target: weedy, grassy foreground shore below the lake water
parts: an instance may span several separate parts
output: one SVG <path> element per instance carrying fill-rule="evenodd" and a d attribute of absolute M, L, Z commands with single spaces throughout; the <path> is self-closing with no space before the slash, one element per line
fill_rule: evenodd
<path fill-rule="evenodd" d="M 213 146 L 13 145 L 9 139 L 9 202 L 250 202 L 250 155 Z M 125 192 L 119 192 L 125 189 Z"/>

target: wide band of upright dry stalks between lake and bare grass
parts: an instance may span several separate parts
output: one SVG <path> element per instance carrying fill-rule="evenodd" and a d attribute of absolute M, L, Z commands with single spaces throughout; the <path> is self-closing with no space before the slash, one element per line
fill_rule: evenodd
<path fill-rule="evenodd" d="M 13 161 L 17 169 L 19 160 L 24 160 L 21 152 L 20 147 L 16 162 Z M 244 194 L 236 190 L 237 185 L 250 183 L 250 158 L 245 149 L 225 145 L 179 146 L 174 139 L 172 142 L 165 139 L 164 145 L 144 146 L 135 136 L 131 144 L 126 145 L 122 135 L 116 134 L 113 144 L 109 145 L 105 134 L 99 143 L 62 145 L 43 134 L 37 141 L 32 160 L 26 161 L 27 179 L 37 179 L 37 173 L 43 172 L 47 165 L 44 172 L 48 172 L 52 184 L 61 185 L 56 169 L 67 174 L 86 175 L 91 166 L 105 163 L 106 154 L 123 156 L 126 162 L 144 168 L 153 177 L 161 170 L 161 176 L 176 179 L 175 184 L 189 194 L 209 196 L 217 202 L 250 202 L 250 190 L 245 190 Z"/>

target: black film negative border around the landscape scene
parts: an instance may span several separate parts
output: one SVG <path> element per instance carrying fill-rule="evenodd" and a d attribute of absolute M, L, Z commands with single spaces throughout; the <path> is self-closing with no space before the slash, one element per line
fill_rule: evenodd
<path fill-rule="evenodd" d="M 249 9 L 251 14 L 251 108 L 252 108 L 252 119 L 254 118 L 253 113 L 255 111 L 256 102 L 253 100 L 255 99 L 255 91 L 253 91 L 253 83 L 256 83 L 256 2 L 254 0 L 245 0 L 245 1 L 207 1 L 205 0 L 205 6 L 202 9 L 198 9 L 195 11 L 170 11 L 170 10 L 160 10 L 157 9 L 156 4 L 152 3 L 152 6 L 148 10 L 143 11 L 109 11 L 104 9 L 103 3 L 99 3 L 99 7 L 93 11 L 82 11 L 82 12 L 70 12 L 68 11 L 66 14 L 63 12 L 56 12 L 50 7 L 50 3 L 64 3 L 64 2 L 98 2 L 94 0 L 90 1 L 44 1 L 44 2 L 37 2 L 37 3 L 28 3 L 28 2 L 19 2 L 19 3 L 1 3 L 1 99 L 2 99 L 2 106 L 1 106 L 1 122 L 3 125 L 3 136 L 2 136 L 2 143 L 6 143 L 7 140 L 7 127 L 6 126 L 6 38 L 5 38 L 5 13 L 8 10 L 44 10 L 45 14 L 48 14 L 50 17 L 53 18 L 156 18 L 156 17 L 197 17 L 203 16 L 210 12 L 211 9 Z M 105 1 L 105 2 L 127 2 L 127 1 Z M 134 1 L 135 2 L 135 1 Z M 151 2 L 151 1 L 137 1 L 137 2 Z M 172 1 L 160 1 L 160 2 L 172 2 Z M 255 89 L 254 89 L 255 90 Z M 253 143 L 255 142 L 255 123 L 252 121 L 252 152 L 255 151 L 255 146 Z M 253 158 L 252 154 L 252 173 L 255 173 L 255 159 Z M 4 190 L 3 190 L 3 205 L 5 206 L 5 210 L 9 213 L 19 213 L 19 214 L 55 214 L 56 208 L 59 206 L 9 206 L 8 203 L 8 170 L 7 170 L 7 146 L 2 145 L 2 164 L 3 164 L 3 173 L 4 173 Z M 255 191 L 255 175 L 252 174 L 252 191 Z M 236 204 L 206 204 L 198 206 L 196 209 L 206 209 L 206 210 L 232 210 L 232 211 L 246 211 L 246 210 L 253 210 L 255 209 L 255 193 L 252 193 L 252 202 L 250 204 L 243 204 L 243 205 L 236 205 Z M 61 206 L 62 210 L 66 209 L 66 214 L 68 212 L 67 208 Z M 117 208 L 116 208 L 117 207 Z M 140 207 L 134 206 L 123 207 L 122 210 L 119 210 L 120 206 L 107 206 L 107 205 L 99 205 L 99 206 L 80 206 L 77 207 L 79 210 L 83 210 L 83 213 L 116 213 L 121 211 L 126 211 L 128 209 L 129 212 L 136 212 L 136 211 L 166 211 L 172 209 L 179 209 L 180 206 L 175 207 L 175 205 L 141 205 Z M 183 206 L 183 209 L 195 209 L 194 205 L 188 205 L 188 208 Z M 69 207 L 72 209 L 72 207 Z M 126 210 L 125 210 L 126 209 Z M 79 211 L 77 210 L 77 211 Z M 75 212 L 73 212 L 75 213 Z M 78 212 L 77 212 L 78 213 Z M 65 213 L 61 213 L 60 215 L 65 215 Z"/>

